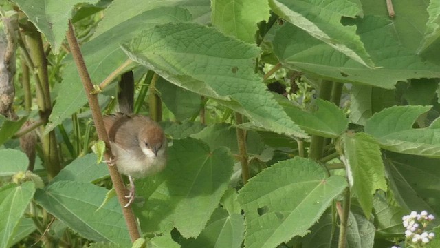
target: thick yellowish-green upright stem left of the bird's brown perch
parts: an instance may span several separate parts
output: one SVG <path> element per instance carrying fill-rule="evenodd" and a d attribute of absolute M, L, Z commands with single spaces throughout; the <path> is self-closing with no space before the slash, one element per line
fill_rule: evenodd
<path fill-rule="evenodd" d="M 28 25 L 27 43 L 30 50 L 30 59 L 34 64 L 34 72 L 36 72 L 40 87 L 37 88 L 37 101 L 39 103 L 40 118 L 47 123 L 49 121 L 50 113 L 52 112 L 52 101 L 50 99 L 50 86 L 47 76 L 47 60 L 44 54 L 43 39 L 41 34 L 36 30 L 31 23 Z M 38 83 L 38 82 L 37 82 Z M 44 132 L 44 127 L 41 127 L 41 132 Z M 52 130 L 49 134 L 41 137 L 43 146 L 43 157 L 49 178 L 54 178 L 61 170 L 60 153 L 56 142 L 55 131 Z"/>

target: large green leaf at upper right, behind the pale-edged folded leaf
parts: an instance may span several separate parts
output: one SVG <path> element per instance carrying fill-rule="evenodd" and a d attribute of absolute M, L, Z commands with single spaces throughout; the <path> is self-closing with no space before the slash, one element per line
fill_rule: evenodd
<path fill-rule="evenodd" d="M 390 33 L 391 21 L 380 16 L 357 19 L 358 34 L 377 68 L 366 68 L 293 25 L 283 25 L 274 38 L 274 53 L 287 68 L 333 81 L 391 89 L 397 81 L 440 77 L 440 67 L 404 48 Z"/>

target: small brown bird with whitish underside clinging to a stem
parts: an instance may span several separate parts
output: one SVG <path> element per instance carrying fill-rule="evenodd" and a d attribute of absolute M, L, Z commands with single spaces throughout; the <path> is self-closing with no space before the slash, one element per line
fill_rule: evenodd
<path fill-rule="evenodd" d="M 104 116 L 104 126 L 109 134 L 111 151 L 118 171 L 130 180 L 129 199 L 124 207 L 133 203 L 135 185 L 133 178 L 151 176 L 164 169 L 166 147 L 164 131 L 155 121 L 138 114 L 109 114 Z"/>

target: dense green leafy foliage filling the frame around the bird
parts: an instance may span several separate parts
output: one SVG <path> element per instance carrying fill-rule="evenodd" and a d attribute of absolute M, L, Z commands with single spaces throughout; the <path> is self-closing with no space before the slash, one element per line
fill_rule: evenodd
<path fill-rule="evenodd" d="M 368 0 L 11 2 L 2 13 L 20 11 L 50 47 L 53 108 L 38 135 L 55 131 L 63 169 L 48 176 L 37 143 L 34 174 L 23 172 L 14 134 L 38 107 L 23 110 L 16 83 L 20 118 L 0 116 L 0 247 L 131 245 L 62 49 L 69 19 L 95 84 L 133 61 L 120 74 L 133 70 L 140 114 L 157 77 L 170 147 L 164 172 L 136 181 L 139 243 L 391 247 L 404 240 L 404 214 L 440 216 L 438 1 L 394 1 L 394 17 L 386 1 Z M 267 90 L 275 81 L 284 95 Z M 115 85 L 99 95 L 103 112 L 113 111 Z"/>

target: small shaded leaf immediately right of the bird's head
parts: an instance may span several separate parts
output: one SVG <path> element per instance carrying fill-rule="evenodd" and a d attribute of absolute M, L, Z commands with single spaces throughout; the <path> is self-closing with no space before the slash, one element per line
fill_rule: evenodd
<path fill-rule="evenodd" d="M 190 122 L 188 120 L 185 120 L 183 123 L 162 122 L 160 125 L 164 128 L 165 133 L 170 135 L 173 139 L 187 138 L 191 134 L 197 134 L 205 128 L 205 126 L 199 122 Z"/>

